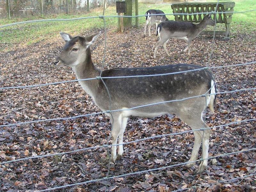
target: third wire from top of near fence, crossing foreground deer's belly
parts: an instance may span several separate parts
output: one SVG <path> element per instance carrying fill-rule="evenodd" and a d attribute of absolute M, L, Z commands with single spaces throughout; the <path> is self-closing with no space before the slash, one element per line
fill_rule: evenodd
<path fill-rule="evenodd" d="M 35 120 L 35 121 L 28 121 L 28 122 L 21 122 L 21 123 L 0 125 L 0 127 L 9 127 L 9 126 L 14 126 L 14 125 L 38 123 L 38 122 L 43 122 L 43 121 L 68 120 L 68 119 L 75 119 L 75 118 L 78 118 L 78 117 L 86 117 L 86 116 L 91 116 L 91 115 L 99 115 L 99 114 L 103 114 L 103 113 L 111 113 L 111 112 L 118 112 L 118 111 L 129 111 L 129 110 L 132 110 L 132 109 L 137 109 L 137 108 L 142 108 L 142 107 L 148 107 L 148 106 L 152 106 L 152 105 L 159 105 L 159 104 L 164 104 L 164 103 L 171 103 L 171 102 L 177 102 L 177 101 L 184 101 L 184 100 L 188 100 L 188 99 L 193 99 L 193 98 L 198 98 L 198 97 L 205 97 L 205 96 L 210 96 L 210 95 L 226 94 L 226 93 L 241 92 L 241 91 L 251 91 L 251 90 L 255 90 L 255 89 L 256 89 L 256 87 L 247 88 L 247 89 L 233 90 L 233 91 L 227 91 L 227 92 L 209 93 L 209 94 L 203 94 L 203 95 L 196 95 L 196 96 L 192 96 L 192 97 L 187 97 L 187 98 L 183 98 L 183 99 L 169 100 L 169 101 L 161 101 L 161 102 L 157 102 L 157 103 L 150 103 L 150 104 L 140 105 L 140 106 L 136 106 L 136 107 L 132 107 L 132 108 L 128 108 L 128 109 L 107 110 L 107 111 L 104 111 L 104 112 L 91 113 L 91 114 L 79 115 L 79 116 L 73 116 L 73 117 L 41 119 L 41 120 Z"/>

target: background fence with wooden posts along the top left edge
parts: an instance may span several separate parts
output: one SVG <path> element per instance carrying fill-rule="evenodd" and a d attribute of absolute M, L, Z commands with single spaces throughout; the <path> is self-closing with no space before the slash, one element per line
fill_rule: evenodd
<path fill-rule="evenodd" d="M 106 3 L 107 6 L 113 6 L 116 0 L 107 0 Z M 102 7 L 103 4 L 104 0 L 3 0 L 0 3 L 0 18 L 81 14 Z"/>

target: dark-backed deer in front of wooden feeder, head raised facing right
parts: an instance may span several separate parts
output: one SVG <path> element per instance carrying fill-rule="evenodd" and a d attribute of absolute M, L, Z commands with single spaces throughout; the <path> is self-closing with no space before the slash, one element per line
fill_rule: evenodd
<path fill-rule="evenodd" d="M 181 51 L 185 53 L 188 51 L 188 57 L 190 54 L 190 46 L 192 40 L 205 29 L 207 25 L 215 25 L 215 22 L 211 18 L 211 14 L 204 16 L 204 19 L 199 24 L 194 24 L 186 21 L 165 21 L 158 25 L 156 29 L 156 36 L 159 36 L 160 40 L 156 44 L 154 58 L 156 58 L 157 49 L 160 45 L 163 45 L 164 51 L 170 57 L 171 55 L 166 49 L 166 44 L 169 39 L 184 39 L 188 46 Z"/>

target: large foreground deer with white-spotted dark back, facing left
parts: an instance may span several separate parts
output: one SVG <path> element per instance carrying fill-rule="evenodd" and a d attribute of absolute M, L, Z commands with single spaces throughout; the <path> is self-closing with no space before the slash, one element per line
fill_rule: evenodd
<path fill-rule="evenodd" d="M 101 32 L 90 36 L 70 36 L 60 32 L 66 42 L 59 56 L 53 61 L 57 67 L 71 67 L 77 79 L 93 78 L 100 76 L 100 69 L 96 68 L 92 62 L 90 46 L 95 42 Z M 124 153 L 123 135 L 127 120 L 131 116 L 156 117 L 164 114 L 176 114 L 182 121 L 188 124 L 192 130 L 208 128 L 202 120 L 202 114 L 206 106 L 213 112 L 216 86 L 212 72 L 209 69 L 188 64 L 172 64 L 165 66 L 143 67 L 143 68 L 113 68 L 103 70 L 101 77 L 117 76 L 137 76 L 182 72 L 172 75 L 147 76 L 147 77 L 126 77 L 126 78 L 104 78 L 108 91 L 111 95 L 111 102 L 105 85 L 101 80 L 79 81 L 82 88 L 92 96 L 95 104 L 102 110 L 122 111 L 111 112 L 108 116 L 112 122 L 112 144 L 116 145 L 119 138 L 118 157 Z M 202 70 L 201 70 L 202 69 Z M 99 78 L 100 79 L 100 78 Z M 187 97 L 210 92 L 211 95 L 204 97 L 194 97 L 182 100 Z M 133 108 L 136 106 L 156 103 L 161 101 L 180 100 L 175 102 L 165 102 L 147 107 Z M 133 108 L 131 110 L 128 110 Z M 203 143 L 203 155 L 205 160 L 199 166 L 198 172 L 202 172 L 207 166 L 209 129 L 204 131 L 194 131 L 195 143 L 191 158 L 187 167 L 195 164 L 198 150 Z M 111 161 L 116 161 L 116 146 L 112 146 Z"/>

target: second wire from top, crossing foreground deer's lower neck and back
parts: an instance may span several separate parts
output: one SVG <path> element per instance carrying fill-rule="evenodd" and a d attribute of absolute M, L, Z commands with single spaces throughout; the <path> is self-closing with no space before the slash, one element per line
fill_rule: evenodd
<path fill-rule="evenodd" d="M 223 65 L 223 66 L 215 66 L 215 67 L 202 67 L 202 68 L 199 68 L 199 69 L 191 69 L 191 70 L 186 70 L 186 71 L 179 71 L 179 72 L 172 72 L 172 73 L 163 73 L 163 74 L 154 74 L 154 75 L 107 76 L 107 77 L 100 77 L 100 78 L 102 78 L 102 79 L 117 79 L 117 78 L 165 76 L 165 75 L 175 75 L 175 74 L 180 74 L 180 73 L 187 73 L 187 72 L 207 70 L 207 69 L 239 67 L 239 66 L 253 65 L 253 64 L 256 64 L 256 61 L 252 61 L 252 62 L 248 62 L 248 63 L 241 63 L 241 64 L 234 64 L 234 65 L 226 65 L 226 66 Z M 55 84 L 78 82 L 78 81 L 89 81 L 89 80 L 96 80 L 96 79 L 99 79 L 99 77 L 98 78 L 94 77 L 94 78 L 87 78 L 87 79 L 79 79 L 79 80 L 59 81 L 59 82 L 46 83 L 46 84 L 36 84 L 36 85 L 26 85 L 26 86 L 12 86 L 12 87 L 0 87 L 0 90 L 32 88 L 32 87 L 39 87 L 39 86 L 46 86 L 46 85 L 55 85 Z"/>

